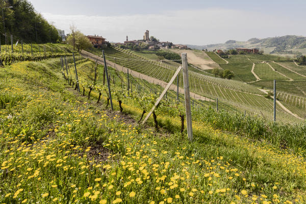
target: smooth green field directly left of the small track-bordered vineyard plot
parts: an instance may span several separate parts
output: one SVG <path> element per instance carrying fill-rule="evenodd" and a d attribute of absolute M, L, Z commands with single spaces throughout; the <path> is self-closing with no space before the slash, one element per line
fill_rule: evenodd
<path fill-rule="evenodd" d="M 222 69 L 229 69 L 235 73 L 234 80 L 239 80 L 242 82 L 252 82 L 256 81 L 256 78 L 251 73 L 252 69 L 251 63 L 230 63 L 230 64 L 220 64 Z"/>

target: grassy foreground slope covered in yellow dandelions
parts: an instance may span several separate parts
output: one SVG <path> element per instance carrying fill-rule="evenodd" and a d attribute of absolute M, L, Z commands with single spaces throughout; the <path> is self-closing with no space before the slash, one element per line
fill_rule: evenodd
<path fill-rule="evenodd" d="M 197 122 L 190 143 L 176 131 L 163 136 L 125 124 L 116 113 L 108 118 L 65 84 L 59 66 L 50 60 L 0 70 L 8 79 L 1 84 L 8 102 L 0 111 L 3 203 L 239 203 L 252 197 L 303 202 L 302 158 Z M 123 108 L 136 117 L 141 113 L 133 103 Z"/>

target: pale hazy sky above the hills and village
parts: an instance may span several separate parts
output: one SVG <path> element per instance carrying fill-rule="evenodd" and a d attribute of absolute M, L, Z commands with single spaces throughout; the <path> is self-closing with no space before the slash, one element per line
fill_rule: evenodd
<path fill-rule="evenodd" d="M 74 24 L 110 42 L 150 36 L 174 44 L 207 45 L 284 35 L 305 36 L 305 0 L 30 0 L 58 29 Z"/>

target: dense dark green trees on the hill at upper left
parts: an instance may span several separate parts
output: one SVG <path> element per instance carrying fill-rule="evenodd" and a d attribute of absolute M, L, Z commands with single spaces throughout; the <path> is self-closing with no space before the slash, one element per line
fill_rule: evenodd
<path fill-rule="evenodd" d="M 3 13 L 0 10 L 1 44 L 5 44 L 5 30 L 8 42 L 10 35 L 13 35 L 14 42 L 36 42 L 36 33 L 38 43 L 55 43 L 62 40 L 55 26 L 36 12 L 28 0 L 0 0 L 0 6 L 3 10 Z"/>

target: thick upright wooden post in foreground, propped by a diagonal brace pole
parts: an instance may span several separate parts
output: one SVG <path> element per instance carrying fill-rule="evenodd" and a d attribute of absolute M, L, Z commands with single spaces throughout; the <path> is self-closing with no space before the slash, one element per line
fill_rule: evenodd
<path fill-rule="evenodd" d="M 193 135 L 192 135 L 192 120 L 191 120 L 191 107 L 190 107 L 187 53 L 182 53 L 182 65 L 183 65 L 183 81 L 184 81 L 184 91 L 185 91 L 187 134 L 188 134 L 188 139 L 192 141 Z"/>

